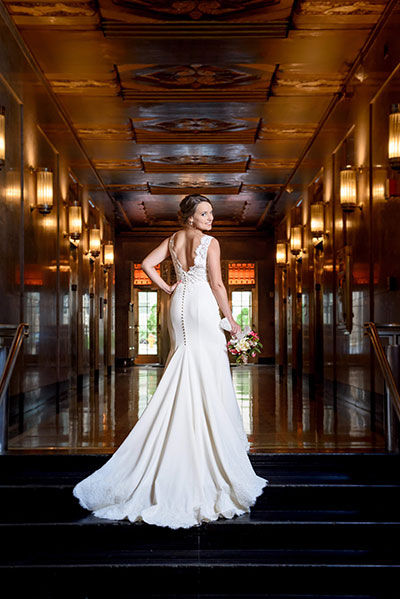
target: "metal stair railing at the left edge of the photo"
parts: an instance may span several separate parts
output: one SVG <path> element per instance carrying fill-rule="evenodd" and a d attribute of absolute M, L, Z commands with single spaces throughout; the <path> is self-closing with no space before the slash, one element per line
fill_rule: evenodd
<path fill-rule="evenodd" d="M 29 325 L 0 325 L 0 453 L 8 447 L 8 386 Z M 9 340 L 12 339 L 8 349 Z M 8 352 L 7 352 L 8 349 Z"/>

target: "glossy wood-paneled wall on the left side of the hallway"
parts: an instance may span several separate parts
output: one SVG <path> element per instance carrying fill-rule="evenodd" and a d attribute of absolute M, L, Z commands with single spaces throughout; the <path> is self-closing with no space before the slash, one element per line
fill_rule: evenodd
<path fill-rule="evenodd" d="M 91 369 L 108 371 L 113 363 L 114 275 L 103 272 L 99 258 L 91 264 L 86 253 L 89 226 L 97 224 L 105 241 L 113 238 L 113 230 L 102 207 L 71 178 L 70 162 L 84 160 L 73 136 L 66 133 L 58 148 L 44 133 L 46 123 L 65 123 L 40 73 L 1 19 L 0 33 L 0 106 L 6 116 L 6 161 L 0 171 L 0 323 L 26 322 L 30 327 L 12 381 L 11 395 L 18 398 L 11 406 L 15 415 L 18 404 L 22 412 L 35 408 L 61 387 L 82 382 Z M 48 215 L 32 210 L 31 169 L 36 167 L 54 173 L 54 208 Z M 84 233 L 74 249 L 67 235 L 67 205 L 76 185 Z"/>

